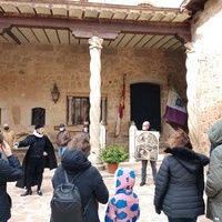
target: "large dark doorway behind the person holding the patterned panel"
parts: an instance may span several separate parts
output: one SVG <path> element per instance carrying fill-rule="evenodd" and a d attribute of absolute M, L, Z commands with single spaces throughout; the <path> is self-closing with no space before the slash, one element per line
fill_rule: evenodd
<path fill-rule="evenodd" d="M 160 85 L 135 83 L 130 85 L 131 121 L 141 130 L 142 122 L 148 120 L 151 129 L 161 131 Z"/>

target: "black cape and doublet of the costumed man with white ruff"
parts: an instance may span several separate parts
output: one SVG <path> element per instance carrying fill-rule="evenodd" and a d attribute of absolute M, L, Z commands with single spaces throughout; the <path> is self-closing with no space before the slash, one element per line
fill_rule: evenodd
<path fill-rule="evenodd" d="M 24 171 L 24 178 L 19 180 L 16 184 L 18 188 L 26 188 L 27 186 L 27 162 L 30 155 L 40 155 L 43 157 L 43 152 L 46 151 L 48 155 L 44 155 L 44 168 L 49 168 L 50 170 L 56 169 L 58 167 L 57 164 L 57 158 L 54 154 L 54 149 L 47 135 L 43 135 L 42 138 L 38 138 L 36 135 L 28 135 L 24 140 L 19 142 L 19 148 L 21 147 L 29 147 L 23 162 L 22 162 L 22 169 Z M 37 185 L 37 175 L 33 175 L 32 185 Z"/>

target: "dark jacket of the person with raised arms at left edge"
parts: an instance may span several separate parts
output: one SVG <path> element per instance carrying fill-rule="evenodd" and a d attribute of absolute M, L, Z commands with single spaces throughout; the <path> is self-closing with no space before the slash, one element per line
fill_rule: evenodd
<path fill-rule="evenodd" d="M 8 162 L 0 158 L 0 222 L 11 218 L 11 198 L 7 193 L 7 182 L 21 179 L 23 171 L 17 157 L 10 155 Z"/>

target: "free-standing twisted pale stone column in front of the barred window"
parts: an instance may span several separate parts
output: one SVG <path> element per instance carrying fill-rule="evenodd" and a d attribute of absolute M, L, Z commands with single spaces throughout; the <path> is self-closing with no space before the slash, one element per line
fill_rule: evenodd
<path fill-rule="evenodd" d="M 100 163 L 100 102 L 101 102 L 101 49 L 103 40 L 89 39 L 90 49 L 90 142 L 92 163 Z"/>

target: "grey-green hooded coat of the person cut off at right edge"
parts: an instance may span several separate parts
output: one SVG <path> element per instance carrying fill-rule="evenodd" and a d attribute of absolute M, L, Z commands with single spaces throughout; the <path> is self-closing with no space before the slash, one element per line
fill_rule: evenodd
<path fill-rule="evenodd" d="M 222 221 L 222 121 L 218 121 L 208 131 L 208 137 L 212 151 L 206 173 L 206 218 Z"/>

